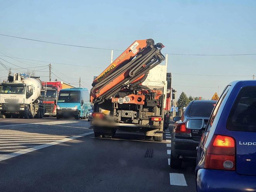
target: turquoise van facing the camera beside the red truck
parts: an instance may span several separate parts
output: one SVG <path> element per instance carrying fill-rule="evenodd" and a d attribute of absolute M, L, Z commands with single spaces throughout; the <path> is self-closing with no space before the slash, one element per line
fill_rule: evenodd
<path fill-rule="evenodd" d="M 77 120 L 85 119 L 89 110 L 91 110 L 91 105 L 88 89 L 61 89 L 57 100 L 57 119 L 69 117 Z"/>

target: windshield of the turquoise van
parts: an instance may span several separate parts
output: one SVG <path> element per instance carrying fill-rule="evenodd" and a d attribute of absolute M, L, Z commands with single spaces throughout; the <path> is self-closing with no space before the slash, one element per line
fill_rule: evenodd
<path fill-rule="evenodd" d="M 61 91 L 59 103 L 80 103 L 80 91 Z"/>

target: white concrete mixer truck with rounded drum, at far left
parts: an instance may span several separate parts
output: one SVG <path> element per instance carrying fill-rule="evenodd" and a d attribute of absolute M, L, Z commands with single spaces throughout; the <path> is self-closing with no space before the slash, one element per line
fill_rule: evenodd
<path fill-rule="evenodd" d="M 22 77 L 15 73 L 0 84 L 0 113 L 3 118 L 42 118 L 44 108 L 40 99 L 39 77 Z"/>

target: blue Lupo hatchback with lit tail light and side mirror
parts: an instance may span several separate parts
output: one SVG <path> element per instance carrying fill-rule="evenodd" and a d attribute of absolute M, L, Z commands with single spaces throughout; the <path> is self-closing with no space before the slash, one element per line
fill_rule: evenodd
<path fill-rule="evenodd" d="M 200 119 L 187 127 L 200 129 Z M 256 81 L 235 81 L 221 94 L 197 150 L 198 192 L 256 191 Z"/>

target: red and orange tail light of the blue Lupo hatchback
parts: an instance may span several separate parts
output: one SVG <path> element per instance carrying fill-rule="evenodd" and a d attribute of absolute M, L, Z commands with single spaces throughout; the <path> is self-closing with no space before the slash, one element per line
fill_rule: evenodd
<path fill-rule="evenodd" d="M 235 170 L 236 142 L 234 138 L 214 135 L 206 151 L 204 168 Z"/>

